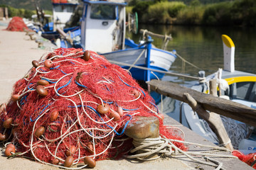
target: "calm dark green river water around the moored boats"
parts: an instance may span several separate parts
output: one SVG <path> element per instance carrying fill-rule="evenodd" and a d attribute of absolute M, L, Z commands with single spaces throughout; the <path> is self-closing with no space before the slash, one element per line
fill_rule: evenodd
<path fill-rule="evenodd" d="M 148 26 L 141 25 L 139 29 L 146 29 L 154 33 L 172 36 L 166 50 L 176 50 L 185 60 L 195 64 L 200 69 L 183 64 L 177 58 L 170 71 L 185 73 L 198 77 L 198 71 L 204 70 L 206 76 L 223 68 L 223 42 L 221 35 L 228 35 L 235 44 L 235 69 L 256 74 L 256 28 L 240 27 L 201 27 L 201 26 Z M 142 38 L 142 34 L 129 34 L 135 42 Z M 161 47 L 162 40 L 154 38 L 154 45 Z M 173 81 L 182 86 L 192 86 L 196 81 L 166 76 L 162 80 Z M 164 98 L 164 113 L 177 121 L 182 119 L 186 125 L 184 116 L 180 115 L 180 102 L 171 98 Z M 160 105 L 159 105 L 160 107 Z M 161 109 L 161 107 L 160 107 Z"/>

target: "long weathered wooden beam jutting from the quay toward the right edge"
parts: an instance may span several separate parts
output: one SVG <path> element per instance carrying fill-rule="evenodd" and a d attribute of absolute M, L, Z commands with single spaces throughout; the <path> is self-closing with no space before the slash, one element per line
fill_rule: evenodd
<path fill-rule="evenodd" d="M 183 94 L 188 93 L 207 111 L 212 111 L 220 115 L 225 115 L 228 118 L 247 123 L 248 125 L 256 126 L 256 109 L 254 108 L 224 98 L 215 97 L 210 94 L 203 94 L 199 91 L 169 81 L 159 81 L 154 79 L 147 82 L 147 84 L 150 85 L 151 90 L 178 101 L 186 102 L 185 98 L 183 98 Z"/>

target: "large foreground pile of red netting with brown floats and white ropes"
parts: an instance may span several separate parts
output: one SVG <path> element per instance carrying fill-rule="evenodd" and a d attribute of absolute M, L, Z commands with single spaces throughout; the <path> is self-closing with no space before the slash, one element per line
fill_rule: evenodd
<path fill-rule="evenodd" d="M 163 125 L 154 99 L 105 57 L 59 48 L 32 64 L 14 85 L 9 103 L 1 106 L 1 134 L 9 135 L 4 141 L 16 145 L 18 155 L 45 164 L 70 156 L 73 164 L 85 157 L 118 158 L 132 148 L 124 132 L 137 115 L 156 116 L 160 134 L 181 140 Z"/>

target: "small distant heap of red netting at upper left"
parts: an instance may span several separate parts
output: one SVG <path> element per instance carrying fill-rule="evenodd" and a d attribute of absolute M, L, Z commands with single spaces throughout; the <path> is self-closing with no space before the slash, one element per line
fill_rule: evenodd
<path fill-rule="evenodd" d="M 11 19 L 9 22 L 8 27 L 6 30 L 11 30 L 11 31 L 24 31 L 28 30 L 28 27 L 24 23 L 23 19 L 18 16 L 14 16 L 14 18 Z"/>

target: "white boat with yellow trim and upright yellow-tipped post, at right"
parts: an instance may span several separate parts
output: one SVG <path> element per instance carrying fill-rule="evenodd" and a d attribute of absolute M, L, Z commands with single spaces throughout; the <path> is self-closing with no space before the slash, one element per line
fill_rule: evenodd
<path fill-rule="evenodd" d="M 251 108 L 256 108 L 256 74 L 235 70 L 235 45 L 227 35 L 223 35 L 222 39 L 224 50 L 223 70 L 219 69 L 218 72 L 210 74 L 206 77 L 206 81 L 195 84 L 191 89 L 208 94 L 208 82 L 211 79 L 216 79 L 219 84 L 218 96 L 237 103 L 242 103 Z M 191 130 L 205 137 L 210 142 L 215 144 L 219 143 L 218 137 L 216 137 L 208 123 L 201 119 L 186 103 L 183 103 L 183 113 L 185 114 L 186 121 Z M 224 116 L 221 118 L 235 149 L 239 149 L 240 142 L 245 138 L 255 140 L 252 134 L 254 128 L 237 120 L 225 118 Z"/>

